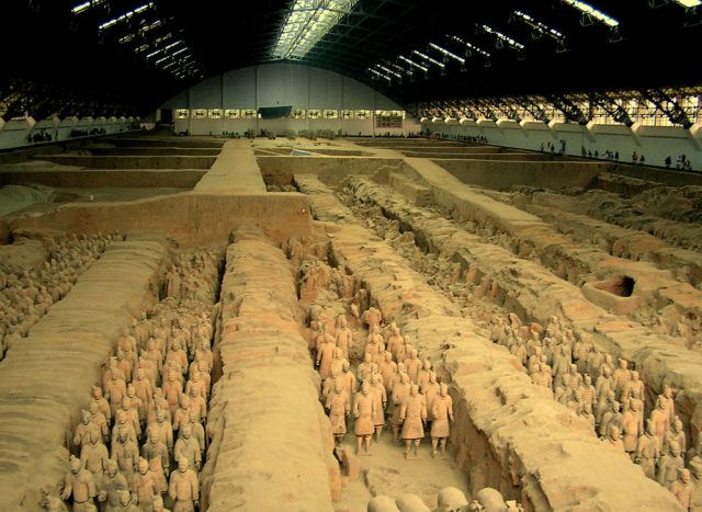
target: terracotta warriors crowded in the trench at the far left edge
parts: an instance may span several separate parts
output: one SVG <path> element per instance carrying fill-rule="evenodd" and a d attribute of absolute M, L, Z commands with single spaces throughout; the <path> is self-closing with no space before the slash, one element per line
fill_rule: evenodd
<path fill-rule="evenodd" d="M 0 269 L 0 361 L 52 305 L 70 292 L 78 276 L 100 258 L 112 239 L 112 235 L 47 239 L 47 260 L 42 269 Z"/>

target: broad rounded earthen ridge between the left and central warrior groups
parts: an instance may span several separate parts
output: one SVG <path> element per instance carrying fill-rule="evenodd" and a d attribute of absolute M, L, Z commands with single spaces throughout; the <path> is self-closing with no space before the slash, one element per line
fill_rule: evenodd
<path fill-rule="evenodd" d="M 257 229 L 227 249 L 202 510 L 332 511 L 340 492 L 319 376 L 283 252 Z"/>

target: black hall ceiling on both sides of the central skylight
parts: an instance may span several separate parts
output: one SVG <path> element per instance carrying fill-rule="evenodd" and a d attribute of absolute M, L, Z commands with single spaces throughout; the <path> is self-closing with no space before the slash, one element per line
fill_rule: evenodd
<path fill-rule="evenodd" d="M 144 15 L 104 31 L 98 26 L 148 0 L 104 0 L 79 15 L 71 8 L 86 0 L 5 0 L 3 2 L 0 93 L 32 90 L 33 98 L 10 109 L 36 114 L 129 107 L 148 112 L 191 83 L 270 61 L 290 0 L 151 0 Z M 403 105 L 458 98 L 559 94 L 589 90 L 677 87 L 702 83 L 699 48 L 702 7 L 686 10 L 669 0 L 589 0 L 619 20 L 618 31 L 584 16 L 564 0 L 359 0 L 302 64 L 359 79 Z M 531 15 L 563 34 L 558 44 L 514 11 Z M 165 20 L 147 36 L 118 43 L 154 19 Z M 500 45 L 499 31 L 524 45 Z M 154 37 L 176 34 L 192 50 L 199 71 L 178 79 L 148 64 L 135 48 Z M 473 52 L 469 42 L 491 54 Z M 444 57 L 429 44 L 465 59 Z M 500 47 L 501 46 L 501 47 Z M 565 49 L 565 50 L 564 50 Z M 428 68 L 412 76 L 398 56 L 418 50 L 440 66 L 412 57 Z M 416 55 L 416 54 L 415 54 Z M 152 61 L 151 61 L 152 62 Z M 367 69 L 382 64 L 396 70 L 392 81 Z M 399 67 L 399 68 L 398 68 Z M 173 69 L 171 69 L 172 71 Z M 42 101 L 44 99 L 44 101 Z M 2 98 L 0 98 L 2 100 Z M 5 98 L 5 103 L 7 103 Z M 106 106 L 105 106 L 106 105 Z M 31 112 L 32 113 L 32 112 Z"/>

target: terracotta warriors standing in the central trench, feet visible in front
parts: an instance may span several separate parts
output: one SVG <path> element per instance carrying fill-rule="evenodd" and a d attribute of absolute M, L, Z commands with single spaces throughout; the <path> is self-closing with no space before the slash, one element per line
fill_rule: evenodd
<path fill-rule="evenodd" d="M 361 321 L 369 329 L 362 350 L 355 346 L 356 335 L 346 315 L 310 325 L 310 346 L 322 379 L 321 400 L 337 443 L 353 417 L 356 454 L 369 455 L 373 437 L 377 442 L 389 422 L 395 442 L 401 439 L 405 444 L 406 457 L 410 448 L 417 456 L 427 430 L 432 454 L 444 456 L 453 421 L 448 386 L 438 382 L 431 361 L 419 357 L 408 335 L 395 323 L 383 323 L 378 309 L 364 310 Z M 362 354 L 355 374 L 350 352 Z"/>

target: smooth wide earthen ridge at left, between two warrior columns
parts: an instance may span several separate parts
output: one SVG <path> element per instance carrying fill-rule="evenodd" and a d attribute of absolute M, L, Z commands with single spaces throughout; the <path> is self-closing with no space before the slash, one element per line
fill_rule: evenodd
<path fill-rule="evenodd" d="M 42 489 L 58 496 L 69 452 L 101 379 L 100 364 L 122 329 L 152 306 L 166 250 L 111 242 L 70 291 L 0 363 L 0 510 L 42 510 Z"/>

